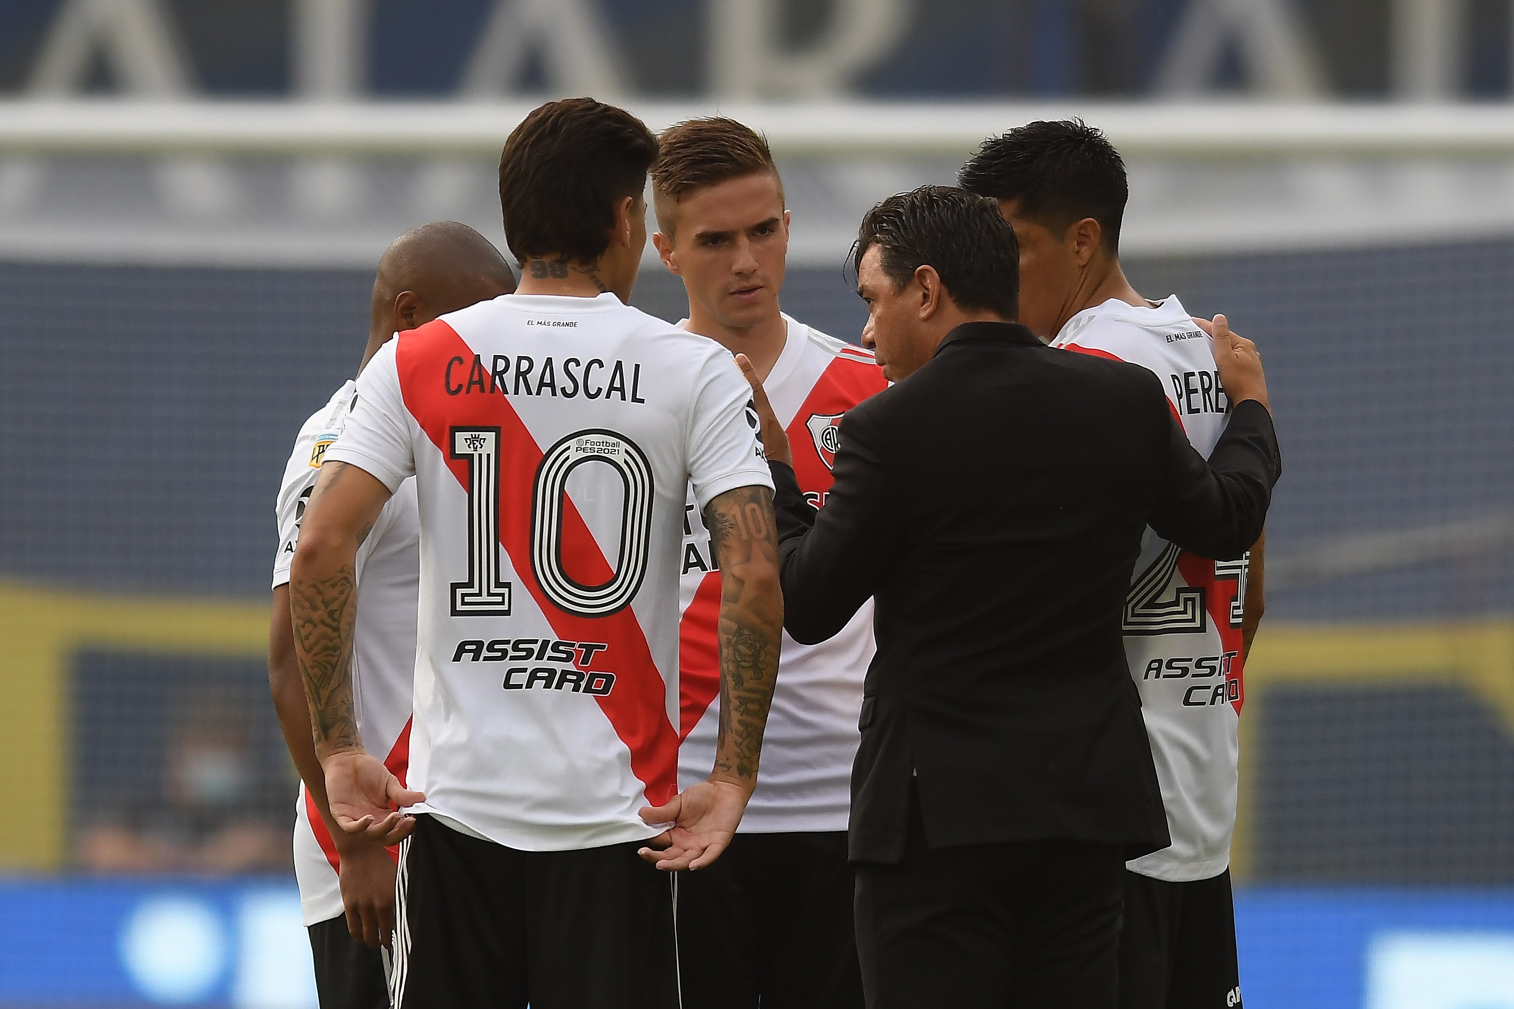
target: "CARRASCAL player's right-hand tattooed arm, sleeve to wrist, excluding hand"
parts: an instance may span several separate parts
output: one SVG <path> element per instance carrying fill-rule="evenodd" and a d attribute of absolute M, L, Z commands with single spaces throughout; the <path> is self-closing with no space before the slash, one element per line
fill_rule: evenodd
<path fill-rule="evenodd" d="M 772 493 L 766 487 L 730 490 L 706 508 L 704 525 L 721 569 L 715 773 L 755 785 L 783 635 Z"/>

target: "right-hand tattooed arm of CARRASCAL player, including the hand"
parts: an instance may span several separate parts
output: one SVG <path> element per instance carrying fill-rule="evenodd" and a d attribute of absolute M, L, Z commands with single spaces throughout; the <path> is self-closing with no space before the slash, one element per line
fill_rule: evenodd
<path fill-rule="evenodd" d="M 642 858 L 669 871 L 709 865 L 736 834 L 757 787 L 783 640 L 772 493 L 766 487 L 728 490 L 704 510 L 704 523 L 721 566 L 721 720 L 709 781 L 642 811 L 648 823 L 674 821 L 642 849 Z"/>

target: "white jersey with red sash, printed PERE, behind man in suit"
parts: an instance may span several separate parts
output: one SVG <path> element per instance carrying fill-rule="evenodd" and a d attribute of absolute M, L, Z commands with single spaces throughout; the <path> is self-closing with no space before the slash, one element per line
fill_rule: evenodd
<path fill-rule="evenodd" d="M 1213 340 L 1176 296 L 1154 307 L 1110 300 L 1084 309 L 1052 346 L 1154 372 L 1193 448 L 1214 451 L 1229 401 Z M 1196 557 L 1146 529 L 1125 601 L 1125 657 L 1140 688 L 1172 846 L 1126 864 L 1142 876 L 1185 882 L 1229 867 L 1245 599 L 1246 560 Z"/>

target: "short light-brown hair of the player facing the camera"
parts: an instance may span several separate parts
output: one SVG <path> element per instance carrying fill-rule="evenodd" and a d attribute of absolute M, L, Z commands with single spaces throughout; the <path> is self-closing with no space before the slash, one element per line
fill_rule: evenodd
<path fill-rule="evenodd" d="M 657 138 L 653 165 L 657 227 L 672 234 L 678 201 L 689 194 L 759 172 L 772 172 L 783 200 L 783 180 L 768 141 L 749 126 L 724 115 L 669 126 Z"/>

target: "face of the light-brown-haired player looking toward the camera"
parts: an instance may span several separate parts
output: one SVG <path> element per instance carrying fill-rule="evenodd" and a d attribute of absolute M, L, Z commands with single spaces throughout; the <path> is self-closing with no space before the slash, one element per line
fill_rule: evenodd
<path fill-rule="evenodd" d="M 683 277 L 689 301 L 728 330 L 749 330 L 778 315 L 789 254 L 789 212 L 778 177 L 759 172 L 706 186 L 678 201 L 672 244 L 659 250 Z"/>

